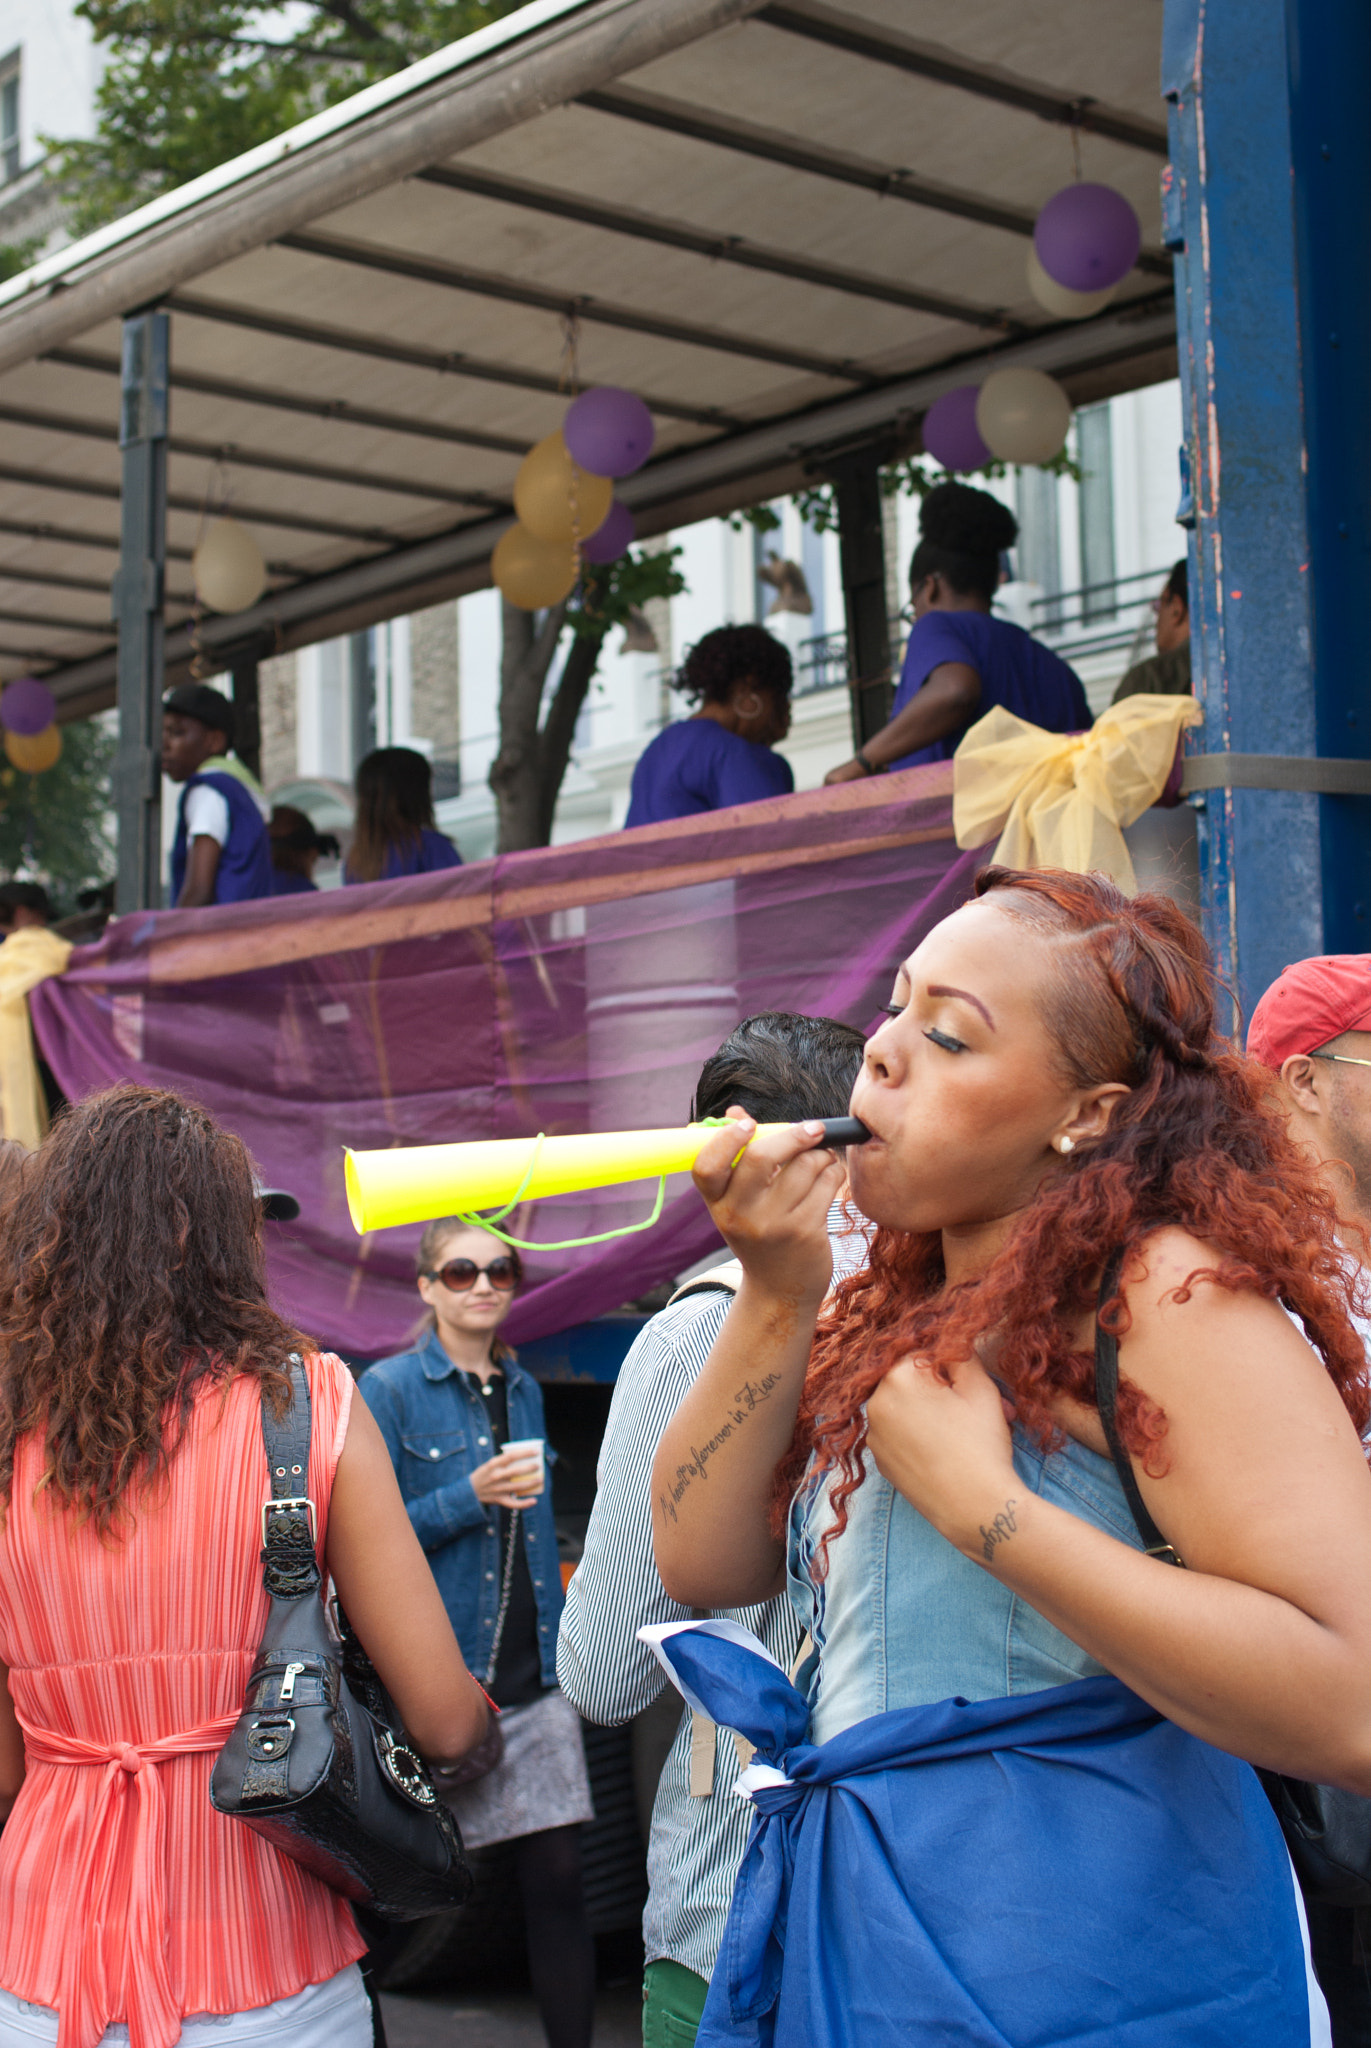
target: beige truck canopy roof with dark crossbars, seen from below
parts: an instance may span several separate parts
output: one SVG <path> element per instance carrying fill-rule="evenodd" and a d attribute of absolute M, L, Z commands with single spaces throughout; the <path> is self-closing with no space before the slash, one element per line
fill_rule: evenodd
<path fill-rule="evenodd" d="M 172 678 L 205 506 L 273 571 L 215 664 L 480 588 L 572 371 L 654 410 L 639 535 L 916 446 L 990 360 L 1078 401 L 1172 375 L 1158 37 L 1135 0 L 537 0 L 59 252 L 0 289 L 0 676 L 113 700 L 139 305 L 172 309 Z M 1144 254 L 1060 324 L 1025 262 L 1074 147 Z"/>

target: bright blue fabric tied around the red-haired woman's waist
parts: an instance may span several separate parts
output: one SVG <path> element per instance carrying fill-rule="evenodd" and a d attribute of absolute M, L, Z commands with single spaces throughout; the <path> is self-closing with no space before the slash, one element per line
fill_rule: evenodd
<path fill-rule="evenodd" d="M 756 1743 L 699 2048 L 1307 2048 L 1293 1876 L 1246 1763 L 1113 1677 L 812 1745 L 736 1634 L 650 1632 Z"/>

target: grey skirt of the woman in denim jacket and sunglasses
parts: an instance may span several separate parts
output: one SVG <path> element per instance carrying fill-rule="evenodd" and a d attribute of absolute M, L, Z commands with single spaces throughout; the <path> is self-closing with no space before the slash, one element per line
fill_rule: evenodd
<path fill-rule="evenodd" d="M 562 1692 L 500 1714 L 504 1755 L 475 1784 L 443 1792 L 469 1849 L 594 1821 L 580 1716 Z"/>

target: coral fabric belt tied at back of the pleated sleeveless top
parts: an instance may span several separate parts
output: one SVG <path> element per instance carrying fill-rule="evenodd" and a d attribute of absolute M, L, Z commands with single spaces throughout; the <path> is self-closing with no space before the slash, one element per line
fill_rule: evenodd
<path fill-rule="evenodd" d="M 57 2048 L 94 2048 L 113 2019 L 127 2019 L 129 2048 L 170 2048 L 180 2038 L 182 2011 L 166 1970 L 166 1800 L 156 1765 L 221 1749 L 236 1720 L 238 1712 L 219 1714 L 156 1743 L 84 1743 L 25 1722 L 25 1751 L 33 1763 L 102 1769 L 86 1810 L 86 1853 L 68 1909 L 72 1939 L 61 1962 Z M 129 1808 L 125 1944 L 111 1974 L 111 1888 Z"/>

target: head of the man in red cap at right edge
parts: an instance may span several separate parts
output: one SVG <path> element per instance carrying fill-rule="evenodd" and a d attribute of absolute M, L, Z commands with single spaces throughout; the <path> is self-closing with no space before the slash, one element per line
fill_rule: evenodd
<path fill-rule="evenodd" d="M 1371 954 L 1287 967 L 1252 1012 L 1248 1057 L 1281 1077 L 1291 1137 L 1342 1214 L 1371 1231 Z"/>

